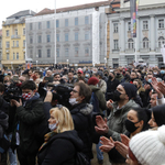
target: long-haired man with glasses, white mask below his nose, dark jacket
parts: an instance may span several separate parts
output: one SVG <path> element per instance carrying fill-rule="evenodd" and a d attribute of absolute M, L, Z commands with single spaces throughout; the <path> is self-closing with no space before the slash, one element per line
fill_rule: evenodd
<path fill-rule="evenodd" d="M 74 120 L 75 130 L 78 132 L 78 136 L 82 140 L 85 147 L 82 153 L 87 160 L 94 157 L 92 155 L 92 140 L 91 140 L 91 122 L 90 117 L 92 112 L 92 106 L 89 105 L 91 98 L 91 89 L 84 82 L 75 84 L 73 91 L 70 92 L 69 103 L 72 105 L 70 113 Z"/>

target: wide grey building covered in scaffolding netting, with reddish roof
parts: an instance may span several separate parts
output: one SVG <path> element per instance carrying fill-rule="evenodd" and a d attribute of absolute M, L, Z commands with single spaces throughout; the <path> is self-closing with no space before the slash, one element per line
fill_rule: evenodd
<path fill-rule="evenodd" d="M 56 63 L 80 66 L 99 61 L 105 64 L 107 7 L 109 1 L 57 9 L 56 22 L 54 10 L 48 9 L 28 18 L 26 57 L 38 65 L 54 64 L 56 35 Z"/>

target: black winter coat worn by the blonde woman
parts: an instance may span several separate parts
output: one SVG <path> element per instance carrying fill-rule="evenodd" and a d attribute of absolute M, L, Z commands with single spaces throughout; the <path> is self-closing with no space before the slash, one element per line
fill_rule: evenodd
<path fill-rule="evenodd" d="M 38 152 L 38 165 L 74 165 L 76 152 L 82 147 L 75 130 L 55 134 Z"/>

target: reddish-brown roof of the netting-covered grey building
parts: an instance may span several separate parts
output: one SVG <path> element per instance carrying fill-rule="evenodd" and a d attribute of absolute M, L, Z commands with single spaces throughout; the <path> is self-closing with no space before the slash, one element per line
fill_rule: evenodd
<path fill-rule="evenodd" d="M 87 3 L 87 4 L 75 6 L 75 7 L 61 8 L 61 9 L 57 9 L 56 12 L 59 13 L 59 12 L 67 12 L 67 11 L 74 11 L 74 10 L 105 7 L 105 6 L 110 6 L 110 1 L 101 1 L 101 2 Z M 44 15 L 44 14 L 52 14 L 52 13 L 54 13 L 54 10 L 45 8 L 38 13 L 36 13 L 35 16 Z"/>

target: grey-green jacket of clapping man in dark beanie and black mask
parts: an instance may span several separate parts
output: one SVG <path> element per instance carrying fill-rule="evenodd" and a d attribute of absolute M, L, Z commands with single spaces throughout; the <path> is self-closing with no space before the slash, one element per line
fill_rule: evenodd
<path fill-rule="evenodd" d="M 112 139 L 114 141 L 121 141 L 120 134 L 124 133 L 127 131 L 124 121 L 128 118 L 128 112 L 133 107 L 139 107 L 133 100 L 130 100 L 125 106 L 123 106 L 121 109 L 118 109 L 118 102 L 112 103 L 112 111 L 108 117 L 108 127 L 109 131 L 107 136 Z"/>

